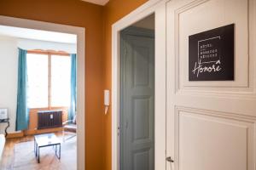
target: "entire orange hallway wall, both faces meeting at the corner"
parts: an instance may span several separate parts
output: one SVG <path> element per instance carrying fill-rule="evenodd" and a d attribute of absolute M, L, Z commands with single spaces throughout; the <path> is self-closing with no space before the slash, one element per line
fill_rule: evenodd
<path fill-rule="evenodd" d="M 0 15 L 85 28 L 86 170 L 111 170 L 111 112 L 103 117 L 102 107 L 102 91 L 111 89 L 111 26 L 147 1 L 110 0 L 101 7 L 80 0 L 0 0 Z"/>

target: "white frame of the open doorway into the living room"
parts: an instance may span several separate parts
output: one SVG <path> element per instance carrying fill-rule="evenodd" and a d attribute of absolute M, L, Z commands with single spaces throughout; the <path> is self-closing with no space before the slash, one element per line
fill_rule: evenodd
<path fill-rule="evenodd" d="M 67 26 L 61 24 L 54 24 L 49 22 L 42 22 L 37 20 L 26 20 L 14 17 L 0 15 L 0 25 L 15 26 L 44 31 L 57 31 L 63 33 L 70 33 L 77 35 L 77 56 L 78 56 L 78 71 L 77 71 L 77 125 L 78 125 L 78 150 L 77 150 L 77 169 L 85 169 L 85 29 L 78 26 Z"/>

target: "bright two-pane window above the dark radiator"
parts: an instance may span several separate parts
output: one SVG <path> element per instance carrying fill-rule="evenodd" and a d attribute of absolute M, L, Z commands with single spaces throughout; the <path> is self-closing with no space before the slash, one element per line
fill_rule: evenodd
<path fill-rule="evenodd" d="M 28 107 L 68 107 L 70 74 L 71 59 L 68 54 L 28 52 Z"/>

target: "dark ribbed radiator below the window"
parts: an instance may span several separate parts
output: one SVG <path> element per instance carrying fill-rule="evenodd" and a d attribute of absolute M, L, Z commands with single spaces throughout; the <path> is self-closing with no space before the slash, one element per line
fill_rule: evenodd
<path fill-rule="evenodd" d="M 62 111 L 38 111 L 38 129 L 61 126 Z"/>

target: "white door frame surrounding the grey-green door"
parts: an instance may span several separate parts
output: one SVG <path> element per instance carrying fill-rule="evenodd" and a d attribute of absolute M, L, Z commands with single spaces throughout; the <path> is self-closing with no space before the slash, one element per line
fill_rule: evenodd
<path fill-rule="evenodd" d="M 150 14 L 155 16 L 154 169 L 166 169 L 166 3 L 149 0 L 112 26 L 112 170 L 119 170 L 120 31 Z"/>

